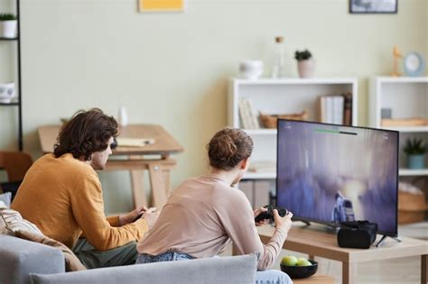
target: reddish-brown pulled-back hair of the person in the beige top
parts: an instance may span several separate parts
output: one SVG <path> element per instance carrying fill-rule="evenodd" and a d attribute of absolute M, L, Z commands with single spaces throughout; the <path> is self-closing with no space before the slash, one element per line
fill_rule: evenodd
<path fill-rule="evenodd" d="M 226 127 L 211 138 L 207 148 L 209 165 L 216 169 L 229 170 L 251 156 L 253 140 L 240 129 Z"/>

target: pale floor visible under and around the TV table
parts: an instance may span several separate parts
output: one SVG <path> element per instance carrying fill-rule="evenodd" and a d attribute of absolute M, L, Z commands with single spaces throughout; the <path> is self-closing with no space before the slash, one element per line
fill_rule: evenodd
<path fill-rule="evenodd" d="M 428 241 L 428 222 L 399 226 L 398 234 L 407 237 L 424 239 Z M 395 242 L 387 238 L 385 242 Z M 273 269 L 279 268 L 279 261 L 284 255 L 293 254 L 298 257 L 307 257 L 299 252 L 281 252 Z M 231 249 L 222 255 L 231 255 Z M 335 284 L 340 284 L 341 262 L 315 258 L 319 262 L 318 272 L 327 274 L 335 279 Z M 421 283 L 421 259 L 420 257 L 409 257 L 387 261 L 369 261 L 358 263 L 358 284 L 420 284 Z"/>

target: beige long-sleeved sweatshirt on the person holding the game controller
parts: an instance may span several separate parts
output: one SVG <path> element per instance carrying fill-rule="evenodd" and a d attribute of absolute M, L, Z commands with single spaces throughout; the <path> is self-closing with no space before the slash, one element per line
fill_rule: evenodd
<path fill-rule="evenodd" d="M 285 238 L 284 230 L 276 229 L 269 243 L 263 244 L 245 194 L 210 175 L 188 179 L 175 189 L 154 228 L 138 244 L 138 252 L 184 252 L 206 258 L 232 241 L 241 254 L 259 252 L 257 268 L 266 270 L 281 252 Z"/>

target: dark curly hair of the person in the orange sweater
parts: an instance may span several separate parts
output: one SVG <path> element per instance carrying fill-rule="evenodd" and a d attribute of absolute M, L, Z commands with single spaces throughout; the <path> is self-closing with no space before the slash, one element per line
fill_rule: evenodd
<path fill-rule="evenodd" d="M 117 136 L 117 122 L 99 108 L 79 110 L 60 129 L 53 154 L 59 158 L 65 153 L 76 159 L 90 160 L 91 154 L 107 149 L 108 140 Z"/>

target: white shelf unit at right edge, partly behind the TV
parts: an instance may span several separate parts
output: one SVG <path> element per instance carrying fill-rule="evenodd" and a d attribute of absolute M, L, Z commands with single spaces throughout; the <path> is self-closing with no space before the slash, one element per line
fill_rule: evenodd
<path fill-rule="evenodd" d="M 399 176 L 428 176 L 428 169 L 405 169 L 406 159 L 402 151 L 408 138 L 418 137 L 428 142 L 428 125 L 382 127 L 382 108 L 391 109 L 392 118 L 421 117 L 428 121 L 428 77 L 371 78 L 369 115 L 371 127 L 400 132 Z"/>

